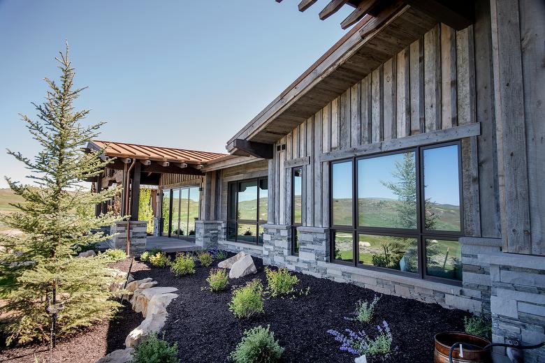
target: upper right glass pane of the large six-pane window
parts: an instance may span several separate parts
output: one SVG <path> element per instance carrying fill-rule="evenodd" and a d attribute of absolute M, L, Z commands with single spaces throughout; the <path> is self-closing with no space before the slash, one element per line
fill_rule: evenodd
<path fill-rule="evenodd" d="M 426 230 L 460 230 L 458 145 L 424 149 Z"/>

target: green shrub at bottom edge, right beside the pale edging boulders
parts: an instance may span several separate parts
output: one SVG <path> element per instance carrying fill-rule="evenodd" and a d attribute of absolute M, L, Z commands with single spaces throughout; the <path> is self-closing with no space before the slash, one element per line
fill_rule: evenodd
<path fill-rule="evenodd" d="M 151 333 L 134 347 L 131 363 L 179 363 L 177 355 L 177 343 L 171 346 L 159 339 L 157 333 Z"/>

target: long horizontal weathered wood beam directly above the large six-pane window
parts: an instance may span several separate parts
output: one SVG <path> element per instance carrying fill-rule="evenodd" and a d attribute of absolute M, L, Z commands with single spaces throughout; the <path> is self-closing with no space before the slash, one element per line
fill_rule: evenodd
<path fill-rule="evenodd" d="M 469 124 L 447 128 L 445 130 L 430 131 L 407 136 L 407 138 L 393 139 L 382 142 L 373 142 L 372 144 L 362 145 L 361 147 L 352 147 L 346 150 L 333 150 L 319 156 L 320 161 L 334 161 L 352 156 L 363 156 L 374 154 L 381 151 L 395 151 L 407 147 L 416 147 L 420 145 L 436 144 L 438 142 L 447 142 L 470 138 L 481 134 L 481 125 L 479 123 Z"/>

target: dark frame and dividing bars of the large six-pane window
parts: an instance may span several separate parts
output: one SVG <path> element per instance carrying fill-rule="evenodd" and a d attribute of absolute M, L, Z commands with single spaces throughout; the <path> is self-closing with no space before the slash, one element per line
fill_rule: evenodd
<path fill-rule="evenodd" d="M 423 168 L 423 152 L 427 149 L 435 149 L 439 147 L 447 147 L 450 145 L 456 145 L 458 147 L 458 192 L 460 198 L 460 230 L 459 231 L 445 231 L 445 230 L 426 230 L 423 221 L 426 214 L 426 198 L 424 195 L 424 168 Z M 404 154 L 409 151 L 414 151 L 415 156 L 415 168 L 416 168 L 416 226 L 417 228 L 389 228 L 389 227 L 361 227 L 358 225 L 358 168 L 357 164 L 359 160 L 365 158 L 376 158 L 379 156 L 387 156 L 393 154 Z M 422 145 L 416 147 L 409 147 L 406 149 L 400 149 L 395 151 L 388 151 L 382 153 L 374 153 L 365 156 L 353 156 L 351 158 L 342 158 L 339 160 L 331 161 L 329 165 L 329 213 L 330 213 L 330 253 L 329 260 L 335 264 L 347 265 L 352 267 L 359 267 L 362 269 L 370 269 L 381 272 L 388 272 L 390 274 L 409 276 L 415 279 L 423 279 L 426 281 L 435 281 L 439 283 L 448 283 L 450 285 L 462 286 L 462 281 L 446 279 L 438 276 L 430 276 L 426 273 L 426 239 L 440 239 L 446 241 L 456 241 L 464 235 L 464 209 L 463 209 L 463 169 L 462 169 L 462 145 L 461 140 L 455 140 L 452 142 L 441 142 L 433 145 Z M 352 225 L 335 225 L 333 224 L 333 165 L 337 163 L 351 163 L 352 172 Z M 335 232 L 347 232 L 352 235 L 352 261 L 342 261 L 335 259 Z M 392 237 L 408 237 L 416 238 L 417 254 L 418 254 L 418 272 L 403 272 L 395 269 L 388 269 L 386 267 L 377 267 L 370 265 L 363 265 L 359 262 L 359 249 L 358 239 L 359 235 L 382 235 Z"/>

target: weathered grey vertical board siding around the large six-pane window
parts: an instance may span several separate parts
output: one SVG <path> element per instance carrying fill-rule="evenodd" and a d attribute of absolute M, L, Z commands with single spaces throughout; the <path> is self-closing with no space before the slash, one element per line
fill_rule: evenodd
<path fill-rule="evenodd" d="M 490 90 L 490 82 L 489 77 L 481 86 Z M 329 163 L 324 155 L 474 124 L 479 121 L 475 87 L 473 26 L 455 31 L 437 24 L 275 144 L 268 161 L 269 203 L 274 205 L 269 223 L 291 224 L 291 198 L 286 198 L 291 168 L 302 166 L 303 225 L 328 227 Z M 478 147 L 476 136 L 462 142 L 465 234 L 499 237 L 495 211 L 481 216 L 479 210 L 479 168 L 491 170 L 494 161 L 479 161 Z"/>

